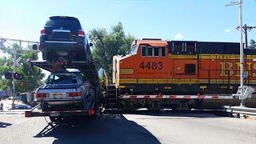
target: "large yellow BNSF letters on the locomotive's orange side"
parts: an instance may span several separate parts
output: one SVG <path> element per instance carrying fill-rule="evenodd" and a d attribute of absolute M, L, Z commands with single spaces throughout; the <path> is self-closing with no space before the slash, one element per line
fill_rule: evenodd
<path fill-rule="evenodd" d="M 252 62 L 246 62 L 245 63 L 245 70 L 246 70 L 246 75 L 249 77 L 250 76 L 250 71 L 251 68 L 253 68 L 253 70 L 256 70 L 256 63 L 252 63 Z M 220 62 L 221 65 L 221 73 L 219 74 L 220 77 L 240 77 L 240 62 Z M 253 77 L 256 77 L 256 72 L 252 73 Z"/>

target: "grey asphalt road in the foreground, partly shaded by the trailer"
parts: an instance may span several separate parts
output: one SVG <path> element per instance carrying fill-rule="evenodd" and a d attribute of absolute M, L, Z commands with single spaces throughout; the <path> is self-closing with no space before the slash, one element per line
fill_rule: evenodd
<path fill-rule="evenodd" d="M 0 143 L 256 142 L 255 119 L 218 117 L 204 112 L 150 114 L 140 111 L 135 114 L 102 115 L 76 125 L 43 130 L 46 126 L 44 118 L 0 114 Z"/>

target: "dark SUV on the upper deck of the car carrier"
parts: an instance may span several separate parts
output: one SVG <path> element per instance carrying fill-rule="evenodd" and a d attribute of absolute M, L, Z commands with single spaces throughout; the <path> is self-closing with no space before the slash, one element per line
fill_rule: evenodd
<path fill-rule="evenodd" d="M 78 18 L 54 16 L 41 30 L 39 50 L 47 61 L 91 61 L 90 46 Z"/>

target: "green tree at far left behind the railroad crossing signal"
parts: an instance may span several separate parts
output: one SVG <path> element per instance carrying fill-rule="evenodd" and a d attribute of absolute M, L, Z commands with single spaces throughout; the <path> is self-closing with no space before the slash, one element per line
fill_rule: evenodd
<path fill-rule="evenodd" d="M 14 43 L 9 49 L 19 49 L 19 46 Z M 32 48 L 31 48 L 32 49 Z M 13 62 L 11 59 L 14 57 L 14 53 L 11 50 L 5 50 L 6 53 L 10 54 L 10 57 L 0 58 L 0 74 L 4 74 L 6 71 L 12 71 L 11 66 Z M 38 54 L 31 54 L 28 52 L 18 52 L 17 58 L 21 57 L 22 68 L 16 67 L 15 71 L 23 74 L 22 80 L 15 81 L 16 92 L 26 92 L 29 90 L 35 90 L 37 87 L 37 82 L 42 84 L 42 78 L 45 74 L 42 74 L 42 70 L 38 67 L 31 67 L 30 63 L 27 62 L 29 59 L 38 59 Z M 0 90 L 6 90 L 8 87 L 12 87 L 11 80 L 0 78 Z"/>

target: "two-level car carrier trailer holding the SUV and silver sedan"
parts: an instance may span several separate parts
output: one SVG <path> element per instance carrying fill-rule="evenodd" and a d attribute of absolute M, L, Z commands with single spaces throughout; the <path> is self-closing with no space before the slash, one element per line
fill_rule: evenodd
<path fill-rule="evenodd" d="M 51 73 L 64 73 L 69 74 L 66 69 L 78 69 L 80 74 L 82 75 L 82 78 L 86 78 L 90 83 L 90 91 L 88 91 L 88 95 L 90 95 L 89 99 L 86 99 L 86 104 L 83 107 L 69 107 L 66 108 L 65 105 L 62 108 L 58 109 L 49 109 L 49 110 L 37 110 L 37 107 L 43 107 L 43 104 L 46 101 L 46 99 L 42 98 L 42 102 L 38 100 L 38 106 L 34 107 L 32 110 L 27 110 L 25 113 L 26 117 L 46 117 L 49 116 L 52 122 L 59 122 L 63 118 L 68 118 L 70 116 L 95 116 L 98 113 L 98 110 L 102 107 L 102 91 L 101 86 L 99 84 L 98 79 L 98 72 L 96 70 L 96 67 L 94 65 L 94 62 L 70 62 L 70 63 L 51 63 L 47 61 L 30 61 L 30 64 L 32 66 L 38 66 L 42 68 L 43 70 L 50 71 Z M 58 66 L 56 66 L 58 65 Z M 54 84 L 53 84 L 54 85 Z M 55 85 L 56 86 L 56 85 Z M 48 86 L 49 87 L 49 86 Z M 53 86 L 54 87 L 54 86 Z M 65 91 L 65 86 L 62 89 L 58 89 L 58 91 Z M 46 89 L 48 90 L 48 89 Z M 50 89 L 54 90 L 54 88 Z M 44 92 L 46 93 L 46 92 Z M 59 93 L 59 92 L 58 92 Z M 36 92 L 37 94 L 37 92 Z M 41 94 L 41 93 L 40 93 Z M 50 94 L 50 93 L 49 93 Z M 49 95 L 48 94 L 48 95 Z M 64 94 L 64 92 L 63 92 Z M 70 93 L 71 96 L 74 93 Z M 65 94 L 66 95 L 66 94 Z M 72 97 L 71 101 L 75 101 L 75 99 Z M 54 102 L 62 102 L 62 99 L 55 99 Z M 94 106 L 92 106 L 94 105 Z"/>

